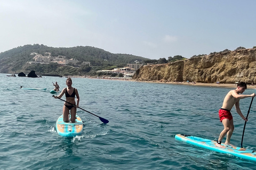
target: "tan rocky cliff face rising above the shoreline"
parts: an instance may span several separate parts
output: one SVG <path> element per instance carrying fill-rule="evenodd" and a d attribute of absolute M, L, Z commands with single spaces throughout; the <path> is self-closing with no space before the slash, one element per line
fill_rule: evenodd
<path fill-rule="evenodd" d="M 196 81 L 256 83 L 256 48 L 189 58 L 174 63 L 143 65 L 133 75 L 138 81 Z"/>

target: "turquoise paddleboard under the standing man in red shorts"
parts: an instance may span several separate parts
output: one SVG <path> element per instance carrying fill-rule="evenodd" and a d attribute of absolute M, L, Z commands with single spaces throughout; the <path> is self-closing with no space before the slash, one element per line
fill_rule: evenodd
<path fill-rule="evenodd" d="M 185 135 L 185 134 L 177 134 L 177 135 L 175 135 L 175 139 L 183 141 L 183 142 L 187 142 L 191 145 L 195 145 L 195 146 L 198 146 L 201 148 L 221 152 L 223 154 L 234 155 L 239 158 L 252 160 L 252 161 L 256 162 L 256 151 L 254 151 L 254 150 L 235 147 L 235 146 L 226 146 L 223 144 L 221 144 L 221 145 L 226 146 L 226 148 L 220 148 L 220 147 L 215 146 L 216 141 L 199 138 L 199 137 L 193 137 L 193 136 Z"/>

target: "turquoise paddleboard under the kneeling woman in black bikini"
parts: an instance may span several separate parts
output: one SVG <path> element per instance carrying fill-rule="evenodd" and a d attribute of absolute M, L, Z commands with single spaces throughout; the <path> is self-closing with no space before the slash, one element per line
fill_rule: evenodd
<path fill-rule="evenodd" d="M 61 115 L 56 122 L 56 130 L 63 137 L 75 137 L 83 133 L 83 121 L 76 115 L 75 123 L 63 122 L 63 115 Z"/>

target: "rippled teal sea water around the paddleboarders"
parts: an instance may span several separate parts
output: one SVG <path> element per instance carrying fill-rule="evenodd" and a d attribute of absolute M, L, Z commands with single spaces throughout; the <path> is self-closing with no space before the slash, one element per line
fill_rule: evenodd
<path fill-rule="evenodd" d="M 255 162 L 175 140 L 175 134 L 217 140 L 223 125 L 218 111 L 234 88 L 201 87 L 89 78 L 72 78 L 83 134 L 61 137 L 56 131 L 63 101 L 50 94 L 67 78 L 7 77 L 0 74 L 0 169 L 256 169 Z M 26 90 L 23 88 L 46 88 Z M 244 94 L 252 94 L 247 89 Z M 65 96 L 62 97 L 65 100 Z M 246 116 L 251 98 L 241 99 Z M 241 145 L 244 121 L 231 110 Z M 256 150 L 256 101 L 246 123 L 243 147 Z M 225 140 L 223 140 L 225 141 Z"/>

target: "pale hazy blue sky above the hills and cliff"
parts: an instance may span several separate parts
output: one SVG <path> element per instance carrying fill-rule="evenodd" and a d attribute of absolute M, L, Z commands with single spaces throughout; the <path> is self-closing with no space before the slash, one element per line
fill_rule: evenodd
<path fill-rule="evenodd" d="M 1 0 L 0 52 L 92 46 L 150 59 L 256 46 L 254 0 Z"/>

